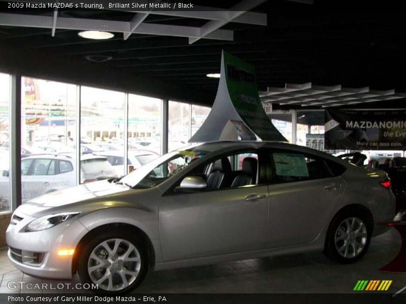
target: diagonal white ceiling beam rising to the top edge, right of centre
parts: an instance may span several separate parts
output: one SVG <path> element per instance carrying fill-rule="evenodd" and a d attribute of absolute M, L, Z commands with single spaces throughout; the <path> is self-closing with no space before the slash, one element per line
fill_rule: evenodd
<path fill-rule="evenodd" d="M 226 25 L 231 20 L 244 15 L 247 11 L 252 10 L 253 8 L 259 6 L 260 4 L 266 2 L 266 0 L 243 0 L 242 2 L 234 5 L 228 12 L 224 12 L 228 18 L 226 20 L 211 20 L 202 27 L 200 27 L 200 36 L 199 37 L 190 37 L 189 44 L 193 44 L 196 41 L 204 38 L 205 36 L 211 34 L 220 27 Z"/>

